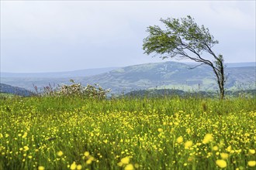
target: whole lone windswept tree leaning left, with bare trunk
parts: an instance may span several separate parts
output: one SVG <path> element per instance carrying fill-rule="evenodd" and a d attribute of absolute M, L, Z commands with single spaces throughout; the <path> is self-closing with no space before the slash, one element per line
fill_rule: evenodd
<path fill-rule="evenodd" d="M 220 88 L 220 98 L 223 99 L 225 89 L 224 83 L 224 59 L 222 55 L 213 53 L 213 46 L 219 43 L 209 33 L 209 29 L 198 26 L 191 16 L 182 19 L 160 19 L 166 27 L 165 30 L 159 26 L 149 26 L 149 36 L 144 39 L 144 53 L 149 55 L 155 53 L 160 58 L 166 59 L 176 57 L 179 59 L 192 59 L 211 66 Z M 208 55 L 205 55 L 208 54 Z M 204 54 L 204 56 L 202 56 Z M 197 67 L 197 66 L 195 66 Z M 195 68 L 193 67 L 193 68 Z M 193 69 L 192 68 L 192 69 Z"/>

